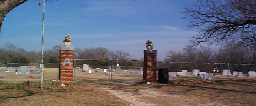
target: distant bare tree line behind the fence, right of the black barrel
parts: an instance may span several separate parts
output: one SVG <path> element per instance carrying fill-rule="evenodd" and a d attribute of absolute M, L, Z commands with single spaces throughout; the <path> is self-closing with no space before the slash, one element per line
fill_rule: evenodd
<path fill-rule="evenodd" d="M 230 63 L 232 70 L 253 70 L 256 66 L 239 64 L 256 64 L 256 48 L 239 46 L 237 42 L 228 42 L 219 49 L 210 47 L 186 46 L 182 51 L 169 51 L 165 58 L 166 62 L 190 62 L 190 63 L 212 63 L 212 64 L 168 64 L 171 70 L 201 69 L 212 71 L 213 68 L 227 69 L 227 65 L 214 65 L 213 63 Z M 238 65 L 236 65 L 238 64 Z"/>

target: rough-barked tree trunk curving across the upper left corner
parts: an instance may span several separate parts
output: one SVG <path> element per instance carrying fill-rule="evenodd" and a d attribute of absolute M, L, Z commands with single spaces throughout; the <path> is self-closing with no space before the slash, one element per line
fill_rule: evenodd
<path fill-rule="evenodd" d="M 0 32 L 2 22 L 4 21 L 4 17 L 6 16 L 6 14 L 26 1 L 27 0 L 0 0 Z"/>

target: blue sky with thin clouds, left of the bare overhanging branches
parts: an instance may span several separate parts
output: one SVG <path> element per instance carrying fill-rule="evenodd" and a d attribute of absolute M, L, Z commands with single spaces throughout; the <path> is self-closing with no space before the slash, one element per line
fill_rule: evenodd
<path fill-rule="evenodd" d="M 42 0 L 41 0 L 42 2 Z M 167 51 L 180 51 L 196 30 L 185 27 L 184 7 L 195 1 L 52 1 L 45 4 L 44 50 L 63 45 L 66 34 L 74 48 L 106 47 L 143 58 L 150 39 L 158 60 Z M 13 43 L 27 51 L 41 51 L 42 8 L 34 0 L 14 8 L 4 18 L 0 47 Z"/>

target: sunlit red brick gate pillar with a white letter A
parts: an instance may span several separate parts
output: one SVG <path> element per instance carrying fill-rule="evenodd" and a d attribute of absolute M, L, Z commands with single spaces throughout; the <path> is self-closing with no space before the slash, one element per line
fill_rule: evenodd
<path fill-rule="evenodd" d="M 73 46 L 60 47 L 59 80 L 62 83 L 73 82 Z"/>

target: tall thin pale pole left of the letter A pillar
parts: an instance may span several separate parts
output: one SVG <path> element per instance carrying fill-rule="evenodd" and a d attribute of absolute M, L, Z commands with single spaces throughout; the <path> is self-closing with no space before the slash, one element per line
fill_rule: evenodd
<path fill-rule="evenodd" d="M 44 72 L 44 5 L 43 2 L 43 20 L 42 20 L 42 50 L 41 50 L 41 89 L 43 89 L 43 72 Z"/>

